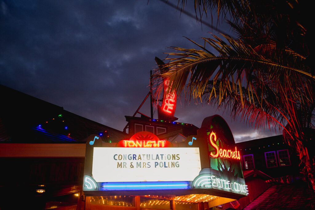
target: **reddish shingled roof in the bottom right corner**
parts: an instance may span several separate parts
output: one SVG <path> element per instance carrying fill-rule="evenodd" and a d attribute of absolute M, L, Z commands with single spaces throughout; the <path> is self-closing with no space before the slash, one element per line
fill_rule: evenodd
<path fill-rule="evenodd" d="M 305 182 L 276 184 L 243 209 L 312 209 L 315 205 L 313 194 Z"/>

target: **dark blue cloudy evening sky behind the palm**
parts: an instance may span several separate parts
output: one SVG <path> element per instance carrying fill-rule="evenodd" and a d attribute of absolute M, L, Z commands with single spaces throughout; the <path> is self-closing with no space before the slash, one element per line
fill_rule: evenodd
<path fill-rule="evenodd" d="M 194 15 L 193 5 L 185 10 Z M 203 21 L 211 24 L 211 16 Z M 225 23 L 218 28 L 233 35 Z M 122 131 L 124 116 L 149 92 L 154 58 L 165 59 L 170 46 L 196 48 L 184 37 L 202 44 L 208 32 L 218 33 L 157 0 L 0 0 L 0 84 Z M 148 116 L 149 102 L 140 109 Z M 214 114 L 223 116 L 237 142 L 276 135 L 257 133 L 216 107 L 177 101 L 178 122 L 200 127 Z"/>

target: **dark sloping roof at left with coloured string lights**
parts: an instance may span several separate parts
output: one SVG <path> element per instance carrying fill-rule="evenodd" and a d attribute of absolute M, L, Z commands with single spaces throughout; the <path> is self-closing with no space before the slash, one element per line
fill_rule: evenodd
<path fill-rule="evenodd" d="M 128 134 L 66 111 L 61 106 L 0 85 L 0 142 L 85 143 L 91 134 L 118 142 Z"/>

